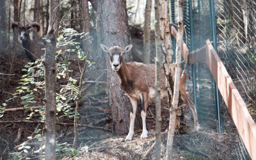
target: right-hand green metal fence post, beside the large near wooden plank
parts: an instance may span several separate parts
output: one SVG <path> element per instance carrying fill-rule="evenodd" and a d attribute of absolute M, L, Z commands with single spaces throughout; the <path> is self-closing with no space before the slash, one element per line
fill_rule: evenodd
<path fill-rule="evenodd" d="M 215 24 L 215 7 L 214 7 L 214 0 L 209 0 L 210 1 L 210 17 L 211 17 L 211 34 L 212 34 L 212 39 L 214 42 L 214 49 L 216 50 L 216 52 L 218 51 L 218 46 L 217 46 L 217 35 L 216 35 L 216 24 Z M 216 102 L 216 116 L 217 116 L 217 120 L 218 120 L 218 132 L 222 132 L 222 126 L 221 126 L 221 106 L 220 106 L 220 92 L 218 89 L 217 84 L 214 82 L 214 86 L 215 86 L 215 102 Z"/>

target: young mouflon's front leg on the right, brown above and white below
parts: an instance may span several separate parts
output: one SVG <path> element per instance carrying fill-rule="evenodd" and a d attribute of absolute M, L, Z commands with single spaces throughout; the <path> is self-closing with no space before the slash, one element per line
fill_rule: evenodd
<path fill-rule="evenodd" d="M 143 124 L 143 131 L 141 133 L 140 138 L 147 138 L 148 137 L 148 131 L 146 126 L 146 116 L 147 116 L 147 107 L 148 107 L 148 94 L 147 93 L 141 93 L 141 119 Z"/>

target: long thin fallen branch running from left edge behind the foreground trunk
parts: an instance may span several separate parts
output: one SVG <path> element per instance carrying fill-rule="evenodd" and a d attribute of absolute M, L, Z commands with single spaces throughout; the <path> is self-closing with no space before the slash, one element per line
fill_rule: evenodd
<path fill-rule="evenodd" d="M 38 124 L 38 123 L 42 123 L 44 124 L 44 122 L 42 121 L 32 121 L 32 120 L 10 120 L 10 121 L 0 121 L 0 124 L 10 124 L 10 123 L 29 123 L 29 124 Z M 66 126 L 74 126 L 74 124 L 67 124 L 67 123 L 56 123 L 58 125 L 66 125 Z M 96 127 L 96 126 L 92 126 L 92 125 L 82 125 L 82 124 L 78 124 L 79 127 L 87 127 L 87 128 L 92 128 L 92 129 L 102 129 L 104 131 L 108 131 L 111 132 L 111 130 L 109 129 L 104 129 L 104 127 Z"/>

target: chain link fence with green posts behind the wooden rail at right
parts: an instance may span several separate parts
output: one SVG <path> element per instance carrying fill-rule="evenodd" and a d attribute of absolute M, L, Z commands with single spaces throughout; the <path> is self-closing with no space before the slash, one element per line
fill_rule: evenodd
<path fill-rule="evenodd" d="M 184 0 L 184 42 L 189 52 L 200 49 L 205 40 L 214 48 L 232 77 L 237 90 L 256 121 L 256 2 L 253 0 Z M 170 1 L 175 23 L 177 1 Z M 205 62 L 188 65 L 187 88 L 194 100 L 199 124 L 228 134 L 236 159 L 251 159 L 232 116 Z M 192 97 L 193 95 L 193 97 Z M 234 156 L 234 155 L 233 155 Z"/>

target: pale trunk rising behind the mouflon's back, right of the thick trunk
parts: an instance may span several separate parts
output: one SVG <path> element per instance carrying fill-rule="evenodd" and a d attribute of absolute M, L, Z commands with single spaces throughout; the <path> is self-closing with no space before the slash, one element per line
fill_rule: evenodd
<path fill-rule="evenodd" d="M 144 22 L 144 40 L 143 40 L 143 63 L 150 64 L 150 14 L 151 14 L 152 0 L 147 0 L 145 8 L 145 22 Z"/>

